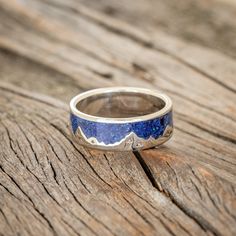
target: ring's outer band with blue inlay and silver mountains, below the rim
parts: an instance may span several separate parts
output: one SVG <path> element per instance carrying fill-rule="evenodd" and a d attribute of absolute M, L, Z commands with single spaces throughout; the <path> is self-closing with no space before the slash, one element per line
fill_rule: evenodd
<path fill-rule="evenodd" d="M 93 147 L 116 150 L 144 149 L 157 146 L 171 137 L 172 112 L 145 121 L 103 123 L 82 119 L 71 113 L 73 134 Z M 82 143 L 83 144 L 83 143 Z"/>

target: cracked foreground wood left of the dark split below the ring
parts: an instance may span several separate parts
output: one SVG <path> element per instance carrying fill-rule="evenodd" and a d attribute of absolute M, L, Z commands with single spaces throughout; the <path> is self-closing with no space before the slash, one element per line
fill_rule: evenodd
<path fill-rule="evenodd" d="M 151 185 L 135 155 L 73 143 L 67 106 L 0 89 L 4 235 L 205 234 Z"/>

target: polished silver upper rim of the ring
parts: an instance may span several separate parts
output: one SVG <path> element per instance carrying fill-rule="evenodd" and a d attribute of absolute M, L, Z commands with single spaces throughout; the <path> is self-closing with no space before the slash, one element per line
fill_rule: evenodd
<path fill-rule="evenodd" d="M 88 98 L 94 95 L 100 95 L 104 93 L 114 93 L 114 92 L 130 92 L 130 93 L 152 95 L 154 97 L 158 97 L 162 99 L 165 102 L 165 106 L 161 110 L 154 113 L 150 113 L 148 115 L 127 117 L 127 118 L 106 118 L 106 117 L 92 116 L 92 115 L 83 113 L 76 108 L 76 104 L 85 98 Z M 136 87 L 107 87 L 107 88 L 89 90 L 87 92 L 84 92 L 75 96 L 70 101 L 70 110 L 74 115 L 85 120 L 90 120 L 90 121 L 95 121 L 95 122 L 104 122 L 104 123 L 127 123 L 127 122 L 131 123 L 131 122 L 150 120 L 150 119 L 158 118 L 167 114 L 168 112 L 172 110 L 172 101 L 167 95 L 163 93 L 159 93 L 158 91 L 155 91 L 155 90 L 150 90 L 150 89 L 145 89 L 145 88 L 136 88 Z"/>

